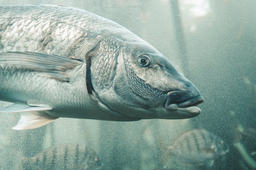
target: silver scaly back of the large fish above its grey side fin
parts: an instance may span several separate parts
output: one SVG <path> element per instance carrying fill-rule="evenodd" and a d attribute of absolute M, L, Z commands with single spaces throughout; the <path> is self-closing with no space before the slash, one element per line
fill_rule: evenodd
<path fill-rule="evenodd" d="M 66 6 L 3 5 L 0 14 L 0 52 L 81 57 L 82 52 L 95 46 L 103 28 L 124 30 L 113 21 Z"/>

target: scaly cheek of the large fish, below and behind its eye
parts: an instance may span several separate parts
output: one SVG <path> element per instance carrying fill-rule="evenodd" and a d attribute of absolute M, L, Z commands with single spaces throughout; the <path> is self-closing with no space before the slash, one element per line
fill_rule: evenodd
<path fill-rule="evenodd" d="M 113 81 L 115 95 L 123 103 L 144 109 L 158 106 L 158 97 L 164 97 L 163 93 L 140 79 L 134 72 L 133 63 L 130 62 L 128 54 L 118 57 L 116 75 Z M 152 95 L 153 94 L 153 95 Z"/>

